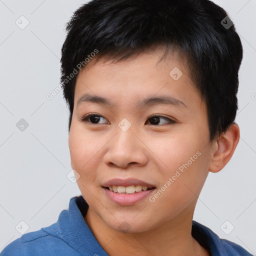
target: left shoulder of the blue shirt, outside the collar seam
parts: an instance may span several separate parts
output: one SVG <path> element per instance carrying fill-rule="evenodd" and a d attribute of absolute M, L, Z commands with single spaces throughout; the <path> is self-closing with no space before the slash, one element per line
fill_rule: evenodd
<path fill-rule="evenodd" d="M 57 250 L 58 253 L 60 253 L 60 250 L 66 252 L 67 250 L 70 250 L 70 246 L 68 246 L 68 244 L 66 244 L 61 238 L 40 229 L 25 233 L 21 237 L 9 243 L 1 251 L 0 256 L 53 256 L 57 255 Z"/>

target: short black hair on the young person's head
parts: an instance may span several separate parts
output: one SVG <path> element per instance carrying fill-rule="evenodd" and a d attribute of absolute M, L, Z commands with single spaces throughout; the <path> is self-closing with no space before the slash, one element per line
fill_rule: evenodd
<path fill-rule="evenodd" d="M 212 1 L 91 0 L 75 10 L 66 31 L 60 79 L 70 111 L 68 131 L 77 67 L 86 67 L 85 58 L 97 50 L 96 58 L 119 61 L 153 45 L 186 54 L 190 77 L 206 103 L 210 141 L 234 122 L 243 50 L 227 12 Z"/>

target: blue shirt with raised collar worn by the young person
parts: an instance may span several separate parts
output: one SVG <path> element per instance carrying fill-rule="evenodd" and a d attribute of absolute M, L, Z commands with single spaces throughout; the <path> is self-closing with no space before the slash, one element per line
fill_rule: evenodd
<path fill-rule="evenodd" d="M 62 210 L 56 223 L 23 234 L 9 243 L 0 256 L 107 256 L 89 226 L 84 221 L 88 204 L 80 196 L 69 201 L 69 209 Z M 192 221 L 192 236 L 208 248 L 211 256 L 252 256 L 240 245 L 220 239 L 208 227 Z"/>

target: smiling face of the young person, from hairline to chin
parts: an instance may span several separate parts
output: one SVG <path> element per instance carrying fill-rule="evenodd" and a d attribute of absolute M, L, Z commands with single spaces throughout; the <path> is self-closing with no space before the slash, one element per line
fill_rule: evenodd
<path fill-rule="evenodd" d="M 115 230 L 126 225 L 129 232 L 147 231 L 191 217 L 207 177 L 211 144 L 205 102 L 188 64 L 176 52 L 157 64 L 162 53 L 157 48 L 115 63 L 92 59 L 77 77 L 71 166 L 89 210 Z M 85 94 L 109 104 L 86 100 Z M 169 101 L 143 104 L 151 97 Z M 153 188 L 118 195 L 104 187 L 114 178 L 121 179 L 115 185 L 131 191 L 132 183 L 137 190 L 140 183 Z"/>

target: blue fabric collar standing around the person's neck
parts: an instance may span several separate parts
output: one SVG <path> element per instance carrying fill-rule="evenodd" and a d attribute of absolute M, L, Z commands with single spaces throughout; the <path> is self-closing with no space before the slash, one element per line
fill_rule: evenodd
<path fill-rule="evenodd" d="M 64 240 L 82 255 L 108 256 L 83 219 L 87 209 L 88 204 L 82 195 L 74 196 L 69 201 L 69 209 L 60 212 L 58 221 L 41 229 Z M 221 239 L 208 227 L 194 220 L 192 221 L 191 234 L 201 246 L 210 251 L 211 256 L 223 256 L 223 252 L 226 252 Z"/>

